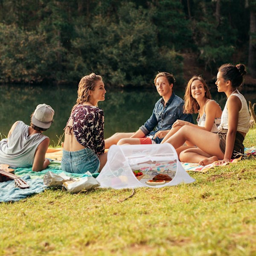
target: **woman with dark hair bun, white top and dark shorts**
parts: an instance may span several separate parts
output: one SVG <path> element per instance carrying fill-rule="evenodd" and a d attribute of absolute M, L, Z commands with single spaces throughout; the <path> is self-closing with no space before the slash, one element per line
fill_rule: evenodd
<path fill-rule="evenodd" d="M 189 141 L 197 148 L 189 148 L 180 152 L 180 161 L 199 163 L 202 166 L 213 163 L 230 162 L 230 159 L 244 154 L 244 137 L 249 131 L 249 110 L 246 99 L 239 92 L 246 75 L 243 64 L 223 64 L 218 69 L 218 92 L 224 92 L 227 102 L 221 115 L 221 124 L 217 134 L 198 128 L 184 125 L 177 133 L 172 135 L 166 143 L 179 148 L 185 141 Z"/>

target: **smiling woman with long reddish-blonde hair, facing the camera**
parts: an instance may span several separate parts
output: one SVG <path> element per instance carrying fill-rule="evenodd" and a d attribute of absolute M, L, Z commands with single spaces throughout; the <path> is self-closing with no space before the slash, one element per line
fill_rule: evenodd
<path fill-rule="evenodd" d="M 169 133 L 164 137 L 162 143 L 165 143 L 184 125 L 189 125 L 205 131 L 218 132 L 217 127 L 221 122 L 222 111 L 220 105 L 211 98 L 212 96 L 204 79 L 201 76 L 193 76 L 186 86 L 184 113 L 198 113 L 198 125 L 183 120 L 177 120 L 172 125 L 172 129 L 169 130 Z M 157 132 L 155 136 L 160 136 L 160 132 L 162 131 Z M 181 146 L 176 149 L 177 154 L 179 155 L 181 151 L 188 148 L 195 148 L 195 144 L 186 141 L 186 146 Z"/>

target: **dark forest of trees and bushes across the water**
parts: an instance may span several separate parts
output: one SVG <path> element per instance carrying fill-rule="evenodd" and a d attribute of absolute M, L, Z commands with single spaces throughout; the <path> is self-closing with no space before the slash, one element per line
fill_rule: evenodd
<path fill-rule="evenodd" d="M 256 81 L 256 0 L 0 0 L 0 82 L 147 87 L 157 71 Z M 254 83 L 253 82 L 253 83 Z"/>

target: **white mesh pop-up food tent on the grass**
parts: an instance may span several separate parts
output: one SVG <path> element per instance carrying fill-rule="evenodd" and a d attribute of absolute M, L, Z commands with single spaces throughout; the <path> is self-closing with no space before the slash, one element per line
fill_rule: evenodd
<path fill-rule="evenodd" d="M 143 173 L 139 180 L 134 171 Z M 148 184 L 157 174 L 169 175 L 171 181 L 164 184 Z M 114 189 L 137 187 L 174 186 L 195 181 L 183 169 L 175 148 L 169 144 L 152 145 L 112 145 L 108 151 L 108 161 L 96 178 L 101 187 Z"/>

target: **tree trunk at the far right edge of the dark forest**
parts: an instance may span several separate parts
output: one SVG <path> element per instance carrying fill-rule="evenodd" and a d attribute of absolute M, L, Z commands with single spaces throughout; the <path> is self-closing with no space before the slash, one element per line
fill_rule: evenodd
<path fill-rule="evenodd" d="M 256 12 L 250 11 L 250 39 L 248 69 L 253 78 L 256 78 Z"/>

